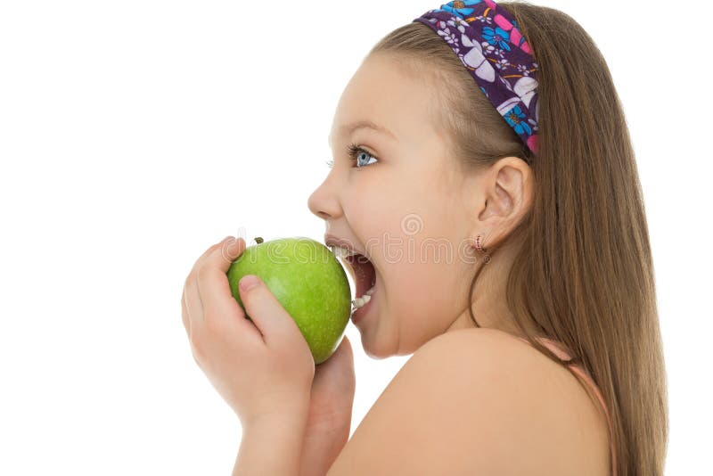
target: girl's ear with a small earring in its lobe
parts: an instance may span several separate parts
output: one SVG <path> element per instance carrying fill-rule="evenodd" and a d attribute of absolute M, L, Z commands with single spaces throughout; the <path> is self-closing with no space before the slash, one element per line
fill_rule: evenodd
<path fill-rule="evenodd" d="M 534 177 L 525 160 L 504 157 L 479 179 L 480 201 L 472 236 L 479 234 L 488 249 L 512 232 L 525 217 L 534 197 Z"/>

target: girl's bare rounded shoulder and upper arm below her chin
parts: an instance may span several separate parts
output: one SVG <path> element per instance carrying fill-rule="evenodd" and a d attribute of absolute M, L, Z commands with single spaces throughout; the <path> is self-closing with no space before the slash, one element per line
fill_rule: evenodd
<path fill-rule="evenodd" d="M 526 342 L 447 332 L 409 358 L 328 474 L 604 475 L 599 423 L 575 377 Z"/>

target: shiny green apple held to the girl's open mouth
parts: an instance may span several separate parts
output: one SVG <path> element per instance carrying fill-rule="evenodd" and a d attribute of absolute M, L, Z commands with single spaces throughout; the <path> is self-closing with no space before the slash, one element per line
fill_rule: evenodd
<path fill-rule="evenodd" d="M 238 283 L 244 275 L 257 275 L 297 323 L 315 364 L 323 363 L 339 346 L 351 316 L 344 267 L 329 248 L 311 238 L 255 241 L 227 271 L 235 300 L 245 310 Z"/>

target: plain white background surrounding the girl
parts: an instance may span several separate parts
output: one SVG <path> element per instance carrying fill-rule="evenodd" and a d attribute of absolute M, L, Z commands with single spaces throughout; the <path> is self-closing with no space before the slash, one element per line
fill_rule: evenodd
<path fill-rule="evenodd" d="M 540 3 L 589 32 L 635 145 L 669 379 L 667 474 L 709 467 L 710 7 Z M 438 3 L 0 4 L 0 473 L 228 474 L 241 428 L 195 365 L 193 262 L 321 240 L 307 197 L 369 48 Z M 706 48 L 707 53 L 704 53 Z M 356 354 L 352 431 L 407 357 Z"/>

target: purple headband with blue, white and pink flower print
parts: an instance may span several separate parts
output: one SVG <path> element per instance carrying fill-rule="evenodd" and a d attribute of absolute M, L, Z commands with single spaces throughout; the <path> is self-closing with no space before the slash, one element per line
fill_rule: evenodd
<path fill-rule="evenodd" d="M 456 0 L 414 21 L 446 41 L 490 103 L 537 156 L 537 62 L 512 15 L 498 9 L 493 0 Z"/>

